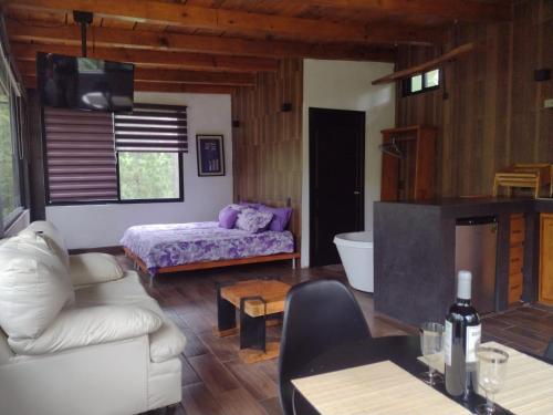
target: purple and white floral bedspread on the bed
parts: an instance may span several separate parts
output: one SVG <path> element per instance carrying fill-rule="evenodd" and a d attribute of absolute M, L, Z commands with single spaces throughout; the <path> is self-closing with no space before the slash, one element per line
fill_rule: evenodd
<path fill-rule="evenodd" d="M 139 225 L 128 228 L 121 245 L 156 273 L 160 267 L 293 252 L 292 232 L 249 234 L 218 222 Z"/>

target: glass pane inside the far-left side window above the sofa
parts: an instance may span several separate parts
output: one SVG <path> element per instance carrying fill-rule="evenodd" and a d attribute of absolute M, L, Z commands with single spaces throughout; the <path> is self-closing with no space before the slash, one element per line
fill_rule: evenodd
<path fill-rule="evenodd" d="M 19 207 L 18 164 L 12 138 L 10 96 L 0 86 L 0 198 L 2 218 L 10 217 Z"/>

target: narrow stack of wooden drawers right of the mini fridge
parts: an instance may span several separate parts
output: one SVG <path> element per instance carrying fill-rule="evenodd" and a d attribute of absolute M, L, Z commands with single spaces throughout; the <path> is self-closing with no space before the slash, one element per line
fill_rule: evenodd
<path fill-rule="evenodd" d="M 509 303 L 520 301 L 522 297 L 522 268 L 524 267 L 524 215 L 511 215 L 509 236 Z"/>

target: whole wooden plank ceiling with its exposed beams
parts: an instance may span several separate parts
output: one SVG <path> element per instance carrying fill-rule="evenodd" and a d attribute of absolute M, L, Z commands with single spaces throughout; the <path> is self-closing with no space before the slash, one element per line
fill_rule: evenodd
<path fill-rule="evenodd" d="M 133 62 L 145 91 L 231 92 L 282 58 L 393 62 L 439 45 L 457 21 L 508 21 L 511 0 L 2 0 L 12 54 L 33 86 L 38 51 L 80 55 L 73 10 L 94 12 L 88 55 Z"/>

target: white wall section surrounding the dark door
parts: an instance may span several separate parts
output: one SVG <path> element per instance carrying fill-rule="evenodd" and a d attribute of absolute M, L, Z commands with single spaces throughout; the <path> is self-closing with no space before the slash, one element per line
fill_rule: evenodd
<path fill-rule="evenodd" d="M 380 198 L 380 129 L 395 125 L 395 89 L 371 82 L 393 71 L 392 63 L 303 61 L 302 267 L 310 252 L 309 108 L 365 112 L 365 230 L 372 230 L 373 203 Z"/>

